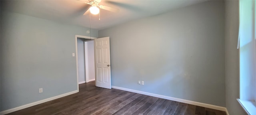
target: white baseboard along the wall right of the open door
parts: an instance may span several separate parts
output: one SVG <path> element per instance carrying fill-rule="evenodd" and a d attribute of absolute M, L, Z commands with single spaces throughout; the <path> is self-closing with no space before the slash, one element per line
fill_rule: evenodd
<path fill-rule="evenodd" d="M 210 109 L 216 109 L 216 110 L 220 110 L 220 111 L 227 111 L 226 107 L 210 105 L 210 104 L 206 104 L 206 103 L 200 103 L 200 102 L 190 101 L 190 100 L 185 100 L 185 99 L 179 99 L 179 98 L 175 98 L 175 97 L 168 97 L 168 96 L 164 96 L 164 95 L 158 95 L 158 94 L 148 93 L 148 92 L 144 92 L 144 91 L 127 89 L 127 88 L 123 88 L 123 87 L 112 86 L 112 88 L 120 89 L 120 90 L 124 90 L 124 91 L 130 91 L 130 92 L 134 92 L 134 93 L 140 93 L 140 94 L 143 94 L 143 95 L 149 95 L 149 96 L 158 97 L 158 98 L 162 98 L 162 99 L 168 99 L 168 100 L 172 100 L 172 101 L 178 101 L 178 102 L 181 102 L 181 103 L 197 105 L 197 106 L 206 107 L 206 108 L 210 108 Z"/>

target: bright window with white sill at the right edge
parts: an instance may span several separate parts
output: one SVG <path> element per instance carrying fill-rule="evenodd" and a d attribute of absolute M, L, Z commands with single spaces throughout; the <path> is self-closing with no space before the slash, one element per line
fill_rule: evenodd
<path fill-rule="evenodd" d="M 240 99 L 248 113 L 256 115 L 256 24 L 255 0 L 240 0 Z"/>

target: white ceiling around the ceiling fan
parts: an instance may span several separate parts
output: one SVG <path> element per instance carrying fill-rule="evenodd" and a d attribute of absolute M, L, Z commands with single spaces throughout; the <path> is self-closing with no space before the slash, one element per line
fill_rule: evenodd
<path fill-rule="evenodd" d="M 101 30 L 204 1 L 206 0 L 102 0 L 100 5 L 118 8 L 120 12 L 100 10 L 100 20 L 99 15 L 91 14 L 91 28 Z M 90 15 L 83 14 L 89 7 L 90 5 L 78 0 L 1 0 L 1 10 L 87 28 L 90 28 Z"/>

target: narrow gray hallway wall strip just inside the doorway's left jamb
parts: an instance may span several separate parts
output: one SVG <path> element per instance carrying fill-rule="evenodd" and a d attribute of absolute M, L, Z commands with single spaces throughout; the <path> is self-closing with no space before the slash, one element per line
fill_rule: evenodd
<path fill-rule="evenodd" d="M 84 39 L 77 38 L 77 59 L 78 59 L 78 82 L 85 81 L 85 67 L 84 67 Z"/>

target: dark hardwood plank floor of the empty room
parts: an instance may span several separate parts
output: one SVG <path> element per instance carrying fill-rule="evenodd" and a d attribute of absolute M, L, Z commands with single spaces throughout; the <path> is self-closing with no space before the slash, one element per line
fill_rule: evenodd
<path fill-rule="evenodd" d="M 35 105 L 8 115 L 226 115 L 189 105 L 118 89 L 79 85 L 79 93 Z"/>

